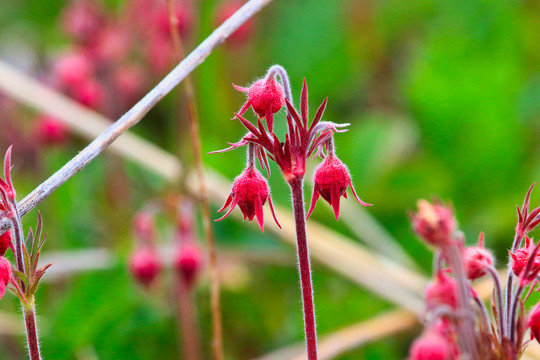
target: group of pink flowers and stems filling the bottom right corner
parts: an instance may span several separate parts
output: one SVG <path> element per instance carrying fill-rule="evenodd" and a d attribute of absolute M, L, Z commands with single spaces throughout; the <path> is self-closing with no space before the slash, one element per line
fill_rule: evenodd
<path fill-rule="evenodd" d="M 538 285 L 540 272 L 540 245 L 534 245 L 527 236 L 540 223 L 540 207 L 529 212 L 533 186 L 523 206 L 517 208 L 518 224 L 509 251 L 505 289 L 492 254 L 484 248 L 484 234 L 480 234 L 478 245 L 466 247 L 451 208 L 418 202 L 413 228 L 436 247 L 437 268 L 434 281 L 426 289 L 426 328 L 411 347 L 411 360 L 517 359 L 528 342 L 527 329 L 531 338 L 540 341 L 540 305 L 529 313 L 524 306 Z M 471 283 L 485 275 L 494 283 L 494 323 Z"/>

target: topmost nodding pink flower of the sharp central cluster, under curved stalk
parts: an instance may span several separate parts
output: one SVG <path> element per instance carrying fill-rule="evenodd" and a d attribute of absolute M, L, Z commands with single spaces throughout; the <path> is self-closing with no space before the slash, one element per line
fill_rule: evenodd
<path fill-rule="evenodd" d="M 238 115 L 244 114 L 251 106 L 253 111 L 261 118 L 266 118 L 268 129 L 272 131 L 274 114 L 285 105 L 283 87 L 276 81 L 275 77 L 269 76 L 266 79 L 257 80 L 249 88 L 234 85 L 238 91 L 247 92 L 248 99 L 242 105 Z"/>

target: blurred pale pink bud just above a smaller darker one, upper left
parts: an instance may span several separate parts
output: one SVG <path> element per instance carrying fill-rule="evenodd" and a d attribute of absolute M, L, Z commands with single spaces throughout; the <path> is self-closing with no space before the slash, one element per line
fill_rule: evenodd
<path fill-rule="evenodd" d="M 66 54 L 54 64 L 54 73 L 61 86 L 78 86 L 94 73 L 90 59 L 79 52 Z"/>

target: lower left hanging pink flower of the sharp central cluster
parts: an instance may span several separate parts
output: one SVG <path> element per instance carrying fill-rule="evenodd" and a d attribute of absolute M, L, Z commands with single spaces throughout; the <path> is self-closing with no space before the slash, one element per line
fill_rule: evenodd
<path fill-rule="evenodd" d="M 244 214 L 244 220 L 247 218 L 249 221 L 252 221 L 254 217 L 257 217 L 259 227 L 264 231 L 262 207 L 266 200 L 268 200 L 268 203 L 270 204 L 270 210 L 272 210 L 272 215 L 276 224 L 281 228 L 274 212 L 274 205 L 272 204 L 272 198 L 270 197 L 270 187 L 268 186 L 268 182 L 254 166 L 248 166 L 242 174 L 234 179 L 231 194 L 223 207 L 218 210 L 218 212 L 221 212 L 225 210 L 227 206 L 230 206 L 229 211 L 216 221 L 225 219 L 229 216 L 234 207 L 238 205 L 242 214 Z"/>

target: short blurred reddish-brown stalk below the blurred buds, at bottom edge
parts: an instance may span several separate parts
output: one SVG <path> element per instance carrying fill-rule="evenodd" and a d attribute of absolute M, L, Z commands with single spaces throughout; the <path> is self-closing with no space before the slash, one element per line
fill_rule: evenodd
<path fill-rule="evenodd" d="M 175 299 L 178 305 L 178 326 L 182 333 L 182 351 L 185 360 L 201 360 L 200 339 L 195 319 L 193 291 L 180 278 L 176 287 Z"/>

